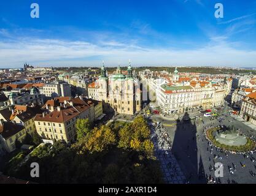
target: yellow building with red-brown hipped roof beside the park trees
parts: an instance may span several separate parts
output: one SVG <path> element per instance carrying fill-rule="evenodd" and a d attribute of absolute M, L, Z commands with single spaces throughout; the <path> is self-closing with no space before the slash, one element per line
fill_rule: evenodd
<path fill-rule="evenodd" d="M 90 105 L 81 96 L 57 97 L 48 100 L 43 108 L 48 111 L 36 115 L 34 122 L 37 133 L 47 140 L 73 142 L 76 140 L 77 119 L 91 119 Z"/>

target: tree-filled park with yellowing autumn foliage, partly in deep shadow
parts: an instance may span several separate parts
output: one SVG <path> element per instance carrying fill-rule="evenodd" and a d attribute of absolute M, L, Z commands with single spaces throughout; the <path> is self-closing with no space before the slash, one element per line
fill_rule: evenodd
<path fill-rule="evenodd" d="M 17 155 L 7 163 L 5 175 L 50 184 L 163 183 L 150 130 L 142 116 L 131 123 L 114 121 L 101 127 L 80 120 L 76 127 L 76 143 L 45 144 L 21 165 L 22 157 Z M 39 164 L 39 178 L 30 176 L 32 162 Z"/>

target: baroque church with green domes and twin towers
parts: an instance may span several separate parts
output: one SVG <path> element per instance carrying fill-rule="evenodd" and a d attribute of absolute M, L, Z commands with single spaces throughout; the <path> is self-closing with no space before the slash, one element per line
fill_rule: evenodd
<path fill-rule="evenodd" d="M 102 101 L 105 111 L 112 108 L 120 114 L 133 115 L 141 110 L 140 84 L 133 76 L 131 64 L 128 66 L 127 75 L 118 66 L 115 74 L 110 76 L 107 76 L 103 65 L 98 80 L 88 86 L 88 97 Z"/>

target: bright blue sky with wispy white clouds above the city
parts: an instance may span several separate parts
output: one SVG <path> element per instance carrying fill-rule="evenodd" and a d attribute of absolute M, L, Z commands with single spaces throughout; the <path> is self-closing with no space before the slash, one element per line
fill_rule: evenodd
<path fill-rule="evenodd" d="M 30 5 L 40 18 L 30 17 Z M 224 18 L 215 18 L 215 4 Z M 256 0 L 5 0 L 0 68 L 256 67 Z"/>

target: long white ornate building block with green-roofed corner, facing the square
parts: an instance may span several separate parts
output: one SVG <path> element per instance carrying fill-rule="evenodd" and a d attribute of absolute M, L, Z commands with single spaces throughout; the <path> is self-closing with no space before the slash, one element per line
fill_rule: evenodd
<path fill-rule="evenodd" d="M 220 106 L 224 103 L 227 91 L 230 89 L 230 86 L 218 80 L 182 77 L 177 67 L 171 77 L 168 73 L 157 75 L 157 77 L 152 73 L 151 77 L 148 74 L 142 74 L 141 78 L 149 88 L 149 99 L 155 100 L 166 114 Z"/>

